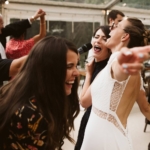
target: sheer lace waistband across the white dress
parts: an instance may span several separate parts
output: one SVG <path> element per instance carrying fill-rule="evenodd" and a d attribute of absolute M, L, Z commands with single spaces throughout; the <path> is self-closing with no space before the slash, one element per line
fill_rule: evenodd
<path fill-rule="evenodd" d="M 113 123 L 124 135 L 125 132 L 124 130 L 121 128 L 121 126 L 118 124 L 117 120 L 115 119 L 115 117 L 109 113 L 103 112 L 101 110 L 98 110 L 96 107 L 92 106 L 92 110 L 93 112 L 98 115 L 100 118 L 103 119 L 107 119 L 109 122 Z"/>

